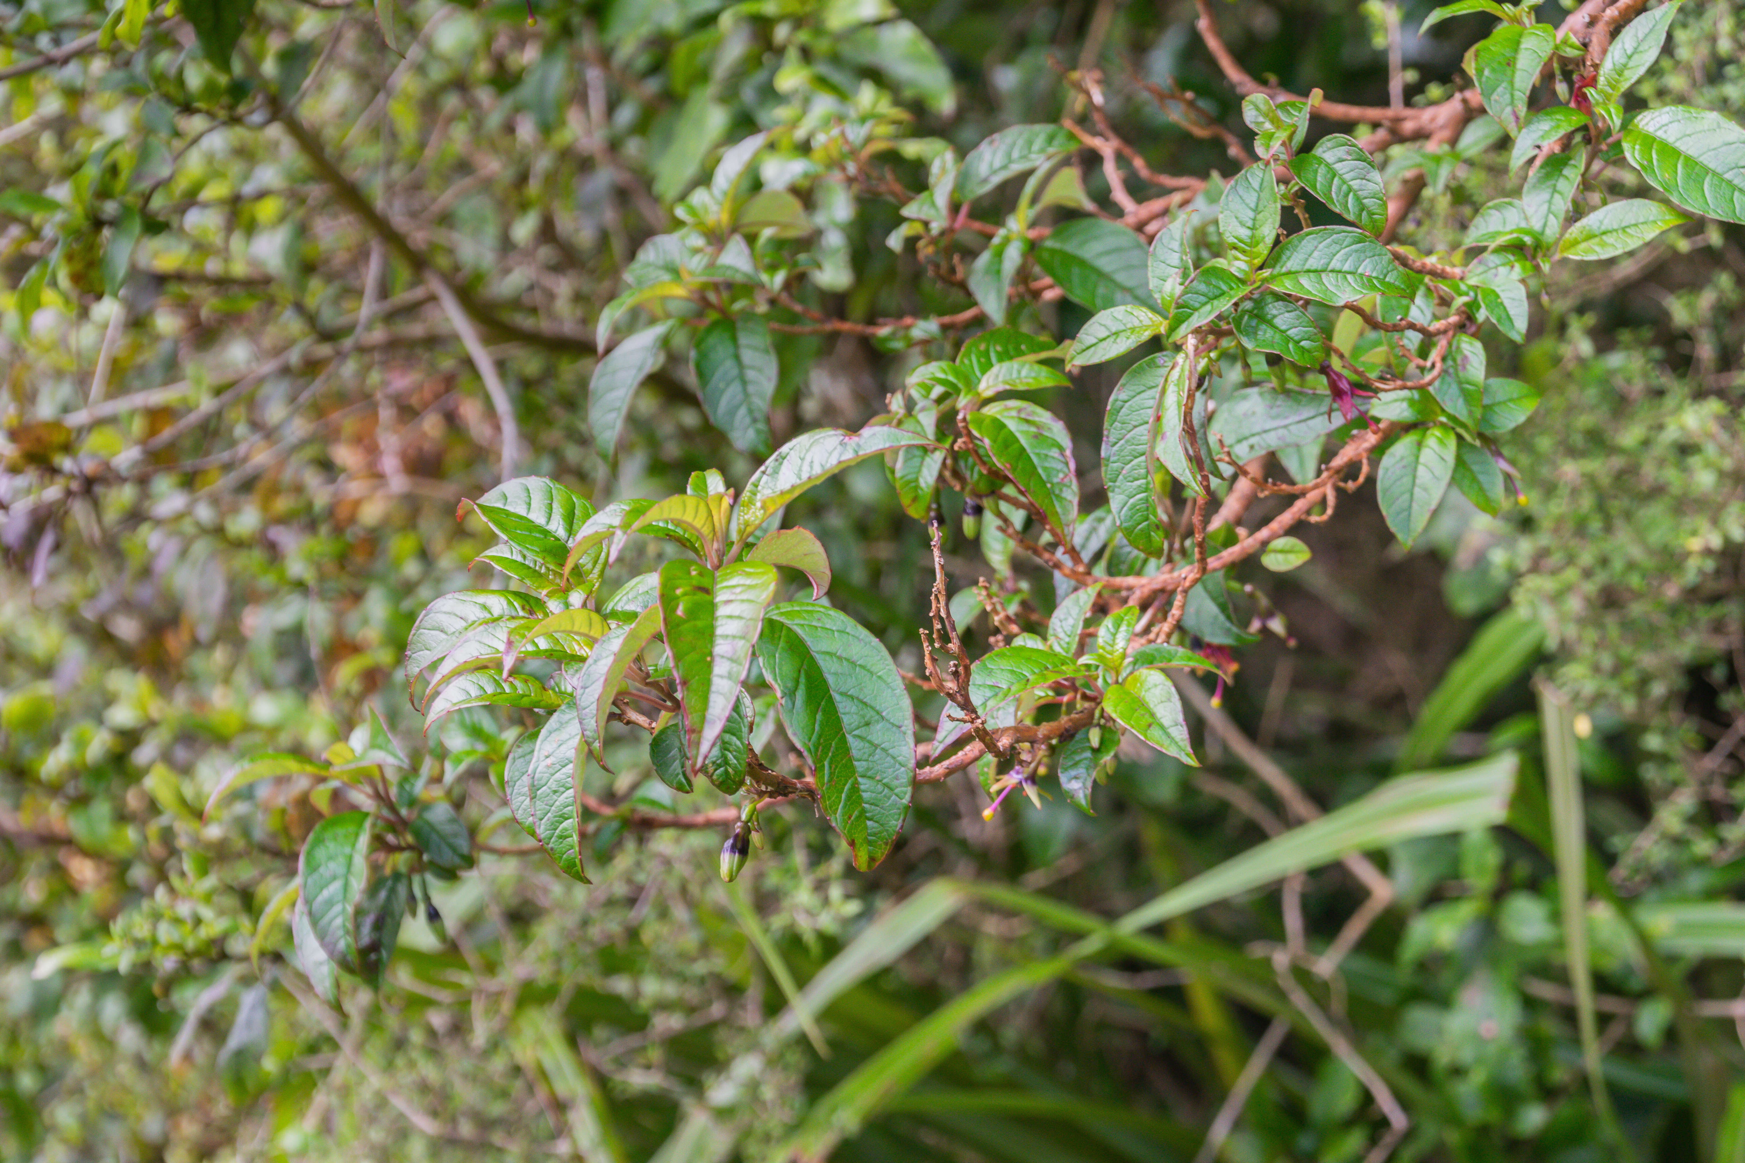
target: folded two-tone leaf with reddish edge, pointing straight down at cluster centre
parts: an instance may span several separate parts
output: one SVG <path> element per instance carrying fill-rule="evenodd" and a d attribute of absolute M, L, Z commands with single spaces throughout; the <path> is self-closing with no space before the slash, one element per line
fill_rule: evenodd
<path fill-rule="evenodd" d="M 689 755 L 708 755 L 721 738 L 775 586 L 775 567 L 764 561 L 736 561 L 719 572 L 684 560 L 660 568 L 661 628 Z"/>

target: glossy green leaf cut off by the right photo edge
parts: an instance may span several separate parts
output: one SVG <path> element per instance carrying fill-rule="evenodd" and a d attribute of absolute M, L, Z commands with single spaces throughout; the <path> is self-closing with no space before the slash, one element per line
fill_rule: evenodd
<path fill-rule="evenodd" d="M 1721 113 L 1647 110 L 1625 129 L 1625 157 L 1684 209 L 1745 223 L 1745 129 Z"/>

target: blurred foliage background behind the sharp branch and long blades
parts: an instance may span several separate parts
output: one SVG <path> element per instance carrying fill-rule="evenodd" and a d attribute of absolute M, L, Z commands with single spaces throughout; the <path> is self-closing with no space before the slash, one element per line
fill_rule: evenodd
<path fill-rule="evenodd" d="M 1482 30 L 1419 37 L 1431 7 L 1218 3 L 1256 77 L 1372 103 L 1391 26 L 1408 99 L 1448 91 Z M 1220 731 L 1197 772 L 1124 753 L 1094 818 L 1044 800 L 982 820 L 968 781 L 927 786 L 866 875 L 799 814 L 771 820 L 731 893 L 714 833 L 602 846 L 581 886 L 499 832 L 506 851 L 441 886 L 441 922 L 408 921 L 384 989 L 340 1013 L 286 961 L 270 908 L 307 795 L 260 785 L 202 818 L 241 760 L 319 753 L 365 706 L 417 736 L 400 652 L 426 602 L 469 584 L 487 539 L 454 507 L 510 459 L 600 497 L 682 490 L 703 467 L 745 478 L 756 462 L 677 373 L 635 398 L 616 460 L 583 420 L 602 305 L 721 146 L 888 110 L 968 148 L 1056 119 L 1059 70 L 1098 66 L 1153 164 L 1232 173 L 1139 84 L 1237 124 L 1192 3 L 900 9 L 534 3 L 529 26 L 520 3 L 270 0 L 230 78 L 171 9 L 0 3 L 0 1158 L 763 1160 L 857 1062 L 1059 931 L 972 901 L 843 994 L 818 1048 L 773 1030 L 766 938 L 804 982 L 941 874 L 1106 917 L 1265 837 Z M 250 75 L 297 94 L 330 171 Z M 1642 96 L 1738 119 L 1745 5 L 1687 5 Z M 1415 213 L 1457 232 L 1504 188 L 1501 159 L 1462 162 Z M 497 321 L 482 342 L 501 385 L 389 262 L 359 192 Z M 885 246 L 888 207 L 839 195 L 810 213 L 831 310 L 951 305 Z M 1290 640 L 1241 650 L 1225 703 L 1333 806 L 1403 764 L 1537 755 L 1529 680 L 1555 680 L 1579 711 L 1604 886 L 1588 914 L 1604 1078 L 1628 1151 L 1668 1163 L 1745 1158 L 1745 938 L 1644 959 L 1607 900 L 1719 901 L 1745 882 L 1742 246 L 1735 227 L 1691 227 L 1548 286 L 1527 345 L 1492 357 L 1546 391 L 1504 445 L 1529 504 L 1495 520 L 1450 493 L 1410 554 L 1373 504 L 1344 506 L 1304 534 L 1314 560 L 1269 584 Z M 1056 310 L 1059 335 L 1082 323 Z M 900 382 L 900 354 L 860 337 L 780 343 L 777 443 L 857 427 Z M 1094 432 L 1112 385 L 1091 370 L 1056 405 Z M 916 670 L 925 530 L 879 466 L 799 507 L 836 563 L 832 600 Z M 455 715 L 424 762 L 501 765 L 506 731 Z M 1543 783 L 1532 764 L 1523 785 Z M 457 807 L 482 823 L 496 806 Z M 1543 809 L 1518 813 L 1389 851 L 1394 903 L 1321 987 L 1338 1039 L 1410 1114 L 1399 1158 L 1621 1149 L 1579 1072 Z M 1314 945 L 1365 896 L 1340 870 L 1302 893 Z M 1171 922 L 1171 966 L 1113 959 L 1021 997 L 836 1158 L 1192 1160 L 1232 1086 L 1251 1097 L 1220 1158 L 1365 1158 L 1382 1119 L 1351 1058 L 1255 956 L 1281 924 L 1256 893 Z M 1277 1057 L 1244 1078 L 1274 1018 Z"/>

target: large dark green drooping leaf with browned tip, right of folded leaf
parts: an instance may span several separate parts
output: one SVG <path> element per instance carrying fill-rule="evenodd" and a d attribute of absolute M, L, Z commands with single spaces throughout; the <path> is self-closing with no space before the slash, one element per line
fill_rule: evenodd
<path fill-rule="evenodd" d="M 897 666 L 846 614 L 808 602 L 770 609 L 757 657 L 825 816 L 855 867 L 871 868 L 895 842 L 914 783 L 914 718 Z"/>

